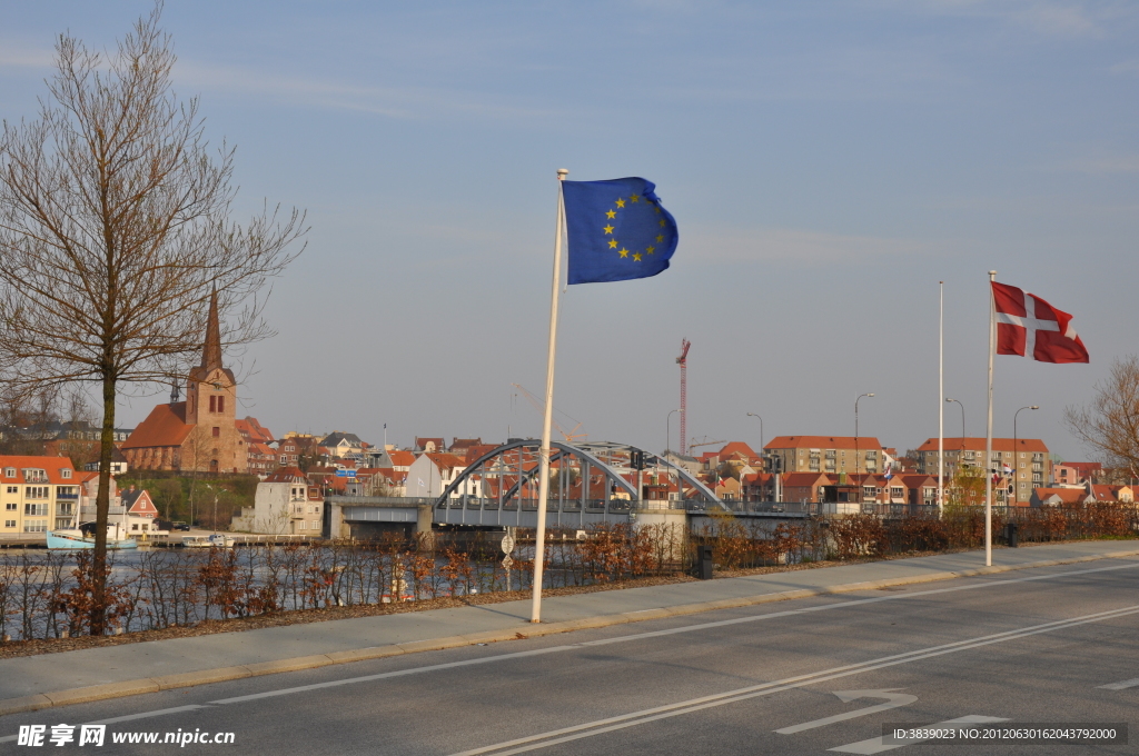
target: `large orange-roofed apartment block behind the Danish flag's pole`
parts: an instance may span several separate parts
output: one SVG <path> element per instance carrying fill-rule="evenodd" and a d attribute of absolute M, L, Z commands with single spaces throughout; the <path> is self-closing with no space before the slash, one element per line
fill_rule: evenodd
<path fill-rule="evenodd" d="M 1000 470 L 1013 469 L 1015 482 L 1013 499 L 1029 501 L 1032 490 L 1052 479 L 1052 462 L 1048 446 L 1040 438 L 993 438 L 993 457 L 985 465 L 984 438 L 945 438 L 945 479 L 952 479 L 958 467 L 980 467 Z M 929 438 L 918 446 L 918 472 L 937 475 L 937 439 Z"/>

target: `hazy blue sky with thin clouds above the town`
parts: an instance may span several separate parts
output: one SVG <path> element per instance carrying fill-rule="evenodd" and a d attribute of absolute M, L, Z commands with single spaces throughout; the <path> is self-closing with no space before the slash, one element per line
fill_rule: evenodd
<path fill-rule="evenodd" d="M 113 44 L 150 3 L 17 3 L 0 116 L 55 35 Z M 900 450 L 945 394 L 984 434 L 986 271 L 1074 314 L 1090 365 L 998 358 L 994 430 L 1060 421 L 1116 356 L 1139 239 L 1139 5 L 1066 0 L 183 2 L 175 90 L 237 147 L 240 209 L 304 207 L 239 411 L 274 433 L 538 435 L 555 170 L 642 175 L 677 217 L 663 274 L 571 287 L 555 403 L 658 450 L 689 354 L 689 436 L 860 432 Z M 167 389 L 162 389 L 165 394 Z M 124 402 L 137 422 L 154 398 Z M 956 405 L 947 433 L 958 434 Z M 572 424 L 571 424 L 572 425 Z M 672 422 L 677 444 L 675 417 Z"/>

